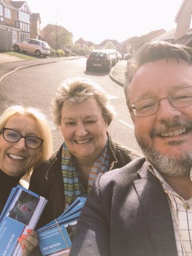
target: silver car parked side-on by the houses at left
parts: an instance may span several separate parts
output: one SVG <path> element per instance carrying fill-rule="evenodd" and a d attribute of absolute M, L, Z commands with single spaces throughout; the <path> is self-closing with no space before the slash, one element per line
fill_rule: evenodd
<path fill-rule="evenodd" d="M 36 56 L 43 55 L 44 57 L 50 54 L 50 47 L 47 42 L 37 40 L 37 39 L 25 39 L 13 43 L 12 48 L 15 51 L 28 51 L 33 52 Z"/>

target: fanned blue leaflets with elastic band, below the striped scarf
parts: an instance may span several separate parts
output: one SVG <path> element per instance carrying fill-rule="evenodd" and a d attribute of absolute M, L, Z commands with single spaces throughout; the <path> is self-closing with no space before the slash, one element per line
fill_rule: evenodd
<path fill-rule="evenodd" d="M 69 253 L 76 228 L 76 222 L 85 204 L 85 197 L 78 197 L 75 202 L 56 220 L 36 230 L 39 246 L 43 255 L 61 255 Z"/>

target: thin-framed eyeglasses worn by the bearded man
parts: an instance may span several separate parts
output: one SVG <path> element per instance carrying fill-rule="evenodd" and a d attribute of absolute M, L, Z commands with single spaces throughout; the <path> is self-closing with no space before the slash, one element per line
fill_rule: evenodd
<path fill-rule="evenodd" d="M 174 107 L 185 107 L 192 105 L 192 86 L 175 90 L 164 98 L 147 98 L 133 102 L 129 111 L 136 117 L 146 117 L 158 112 L 160 100 L 168 99 Z"/>

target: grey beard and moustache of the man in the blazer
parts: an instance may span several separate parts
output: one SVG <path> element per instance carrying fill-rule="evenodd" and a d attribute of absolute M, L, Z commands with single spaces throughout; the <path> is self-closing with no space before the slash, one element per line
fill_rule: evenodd
<path fill-rule="evenodd" d="M 185 153 L 180 152 L 180 158 L 177 158 L 173 155 L 163 155 L 153 148 L 156 134 L 170 131 L 170 129 L 180 129 L 183 127 L 192 127 L 192 122 L 176 121 L 172 125 L 164 124 L 151 132 L 150 143 L 135 133 L 138 144 L 140 145 L 144 155 L 153 164 L 158 172 L 169 176 L 190 176 L 190 169 L 192 167 L 192 150 Z M 178 144 L 182 144 L 182 140 L 172 141 L 172 145 Z M 171 144 L 169 143 L 169 145 Z"/>

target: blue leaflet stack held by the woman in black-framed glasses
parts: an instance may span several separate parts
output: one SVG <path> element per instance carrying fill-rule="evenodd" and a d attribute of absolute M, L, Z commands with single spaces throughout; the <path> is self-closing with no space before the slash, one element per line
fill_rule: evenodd
<path fill-rule="evenodd" d="M 0 255 L 21 256 L 17 238 L 34 229 L 47 200 L 21 186 L 13 188 L 0 216 Z"/>

